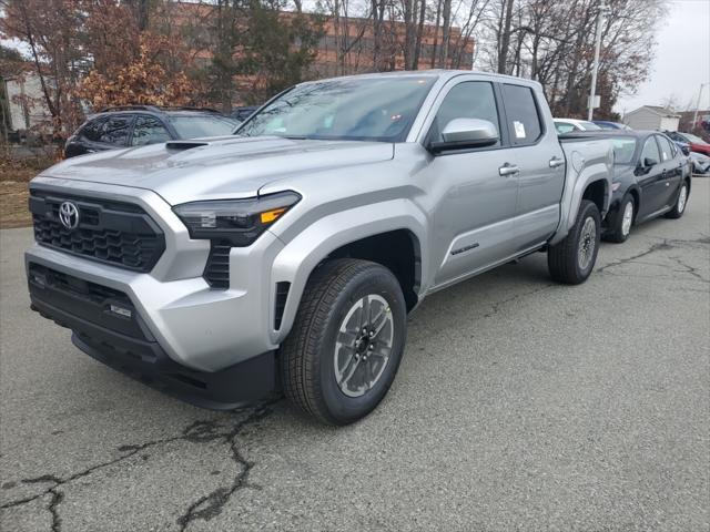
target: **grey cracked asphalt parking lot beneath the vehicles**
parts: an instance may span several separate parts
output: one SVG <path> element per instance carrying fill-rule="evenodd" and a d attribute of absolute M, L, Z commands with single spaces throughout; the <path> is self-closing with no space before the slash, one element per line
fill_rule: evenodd
<path fill-rule="evenodd" d="M 432 296 L 388 397 L 341 429 L 93 361 L 30 311 L 30 242 L 0 235 L 4 531 L 710 530 L 710 180 L 585 285 L 537 254 Z"/>

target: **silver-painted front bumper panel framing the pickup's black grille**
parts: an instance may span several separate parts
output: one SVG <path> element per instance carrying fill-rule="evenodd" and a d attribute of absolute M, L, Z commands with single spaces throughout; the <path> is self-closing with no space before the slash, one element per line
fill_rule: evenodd
<path fill-rule="evenodd" d="M 274 330 L 275 284 L 271 265 L 283 249 L 273 234 L 230 252 L 230 288 L 202 277 L 209 241 L 191 239 L 184 224 L 158 194 L 125 186 L 38 177 L 32 186 L 140 205 L 165 235 L 165 252 L 150 273 L 89 260 L 41 245 L 26 253 L 37 264 L 128 297 L 164 355 L 189 370 L 215 372 L 278 347 Z"/>

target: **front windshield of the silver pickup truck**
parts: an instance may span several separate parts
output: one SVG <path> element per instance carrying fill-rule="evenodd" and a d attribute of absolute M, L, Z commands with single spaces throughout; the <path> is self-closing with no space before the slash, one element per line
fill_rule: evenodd
<path fill-rule="evenodd" d="M 436 76 L 339 79 L 295 86 L 237 135 L 402 142 Z"/>

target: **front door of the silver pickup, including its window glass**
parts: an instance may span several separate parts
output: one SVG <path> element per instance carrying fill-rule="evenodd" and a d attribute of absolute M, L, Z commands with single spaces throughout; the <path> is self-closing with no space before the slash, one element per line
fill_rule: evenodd
<path fill-rule="evenodd" d="M 435 287 L 485 269 L 515 253 L 510 223 L 516 215 L 517 172 L 501 132 L 498 91 L 488 81 L 453 84 L 444 96 L 425 142 L 440 142 L 454 119 L 493 123 L 498 142 L 488 147 L 450 150 L 433 156 L 427 181 L 434 205 Z M 503 170 L 501 170 L 503 168 Z"/>

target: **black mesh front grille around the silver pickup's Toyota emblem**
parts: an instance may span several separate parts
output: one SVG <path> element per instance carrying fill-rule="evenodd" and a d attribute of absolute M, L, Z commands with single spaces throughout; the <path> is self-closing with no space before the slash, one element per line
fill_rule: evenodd
<path fill-rule="evenodd" d="M 60 205 L 72 202 L 79 225 L 69 229 Z M 150 272 L 165 250 L 160 227 L 138 205 L 30 191 L 34 238 L 43 246 L 136 272 Z"/>

